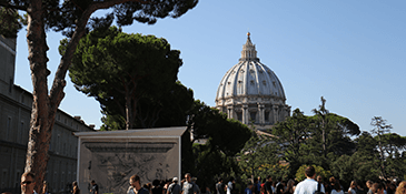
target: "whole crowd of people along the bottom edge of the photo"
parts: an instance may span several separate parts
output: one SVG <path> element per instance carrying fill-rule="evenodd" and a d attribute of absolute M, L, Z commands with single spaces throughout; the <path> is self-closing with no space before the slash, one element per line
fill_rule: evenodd
<path fill-rule="evenodd" d="M 200 187 L 196 184 L 196 177 L 191 177 L 190 173 L 185 174 L 185 178 L 179 182 L 178 177 L 167 181 L 155 180 L 152 183 L 141 184 L 138 175 L 132 175 L 129 180 L 129 188 L 127 194 L 406 194 L 405 181 L 366 181 L 363 183 L 353 181 L 348 190 L 345 188 L 338 178 L 328 177 L 324 182 L 324 177 L 317 176 L 315 169 L 309 166 L 305 171 L 306 178 L 301 182 L 295 180 L 284 181 L 283 178 L 274 178 L 268 175 L 266 178 L 252 177 L 246 183 L 246 188 L 241 190 L 241 185 L 236 185 L 236 180 L 229 177 L 227 184 L 222 177 L 219 177 L 214 192 L 208 186 Z M 24 173 L 21 176 L 21 193 L 37 194 L 34 192 L 34 174 Z M 48 194 L 47 183 L 43 183 L 42 193 Z M 91 182 L 91 194 L 99 194 L 98 185 Z M 72 194 L 80 194 L 78 183 L 72 183 Z"/>

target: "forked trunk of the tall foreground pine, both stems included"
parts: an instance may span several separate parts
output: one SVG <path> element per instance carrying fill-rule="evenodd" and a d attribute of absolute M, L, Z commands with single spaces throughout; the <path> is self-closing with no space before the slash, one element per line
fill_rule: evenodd
<path fill-rule="evenodd" d="M 79 43 L 80 38 L 85 34 L 86 23 L 89 20 L 90 14 L 97 9 L 97 7 L 95 7 L 86 10 L 79 19 L 76 31 L 56 72 L 52 89 L 48 94 L 47 78 L 50 74 L 50 71 L 47 69 L 48 45 L 42 14 L 44 8 L 42 6 L 42 0 L 31 0 L 31 3 L 29 3 L 27 9 L 28 60 L 31 69 L 33 101 L 24 172 L 32 172 L 36 174 L 34 190 L 39 194 L 42 193 L 42 182 L 47 172 L 49 160 L 48 150 L 56 112 L 65 96 L 65 76 L 71 63 L 76 47 Z"/>

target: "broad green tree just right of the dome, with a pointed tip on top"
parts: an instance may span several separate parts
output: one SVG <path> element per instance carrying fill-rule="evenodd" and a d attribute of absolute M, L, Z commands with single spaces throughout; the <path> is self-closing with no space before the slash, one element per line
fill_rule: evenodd
<path fill-rule="evenodd" d="M 357 124 L 349 119 L 329 113 L 321 98 L 315 115 L 306 116 L 299 109 L 286 121 L 277 123 L 271 129 L 276 135 L 278 155 L 289 163 L 288 176 L 295 173 L 303 164 L 315 164 L 330 169 L 334 161 L 341 155 L 351 155 L 356 144 L 351 136 L 360 133 Z"/>

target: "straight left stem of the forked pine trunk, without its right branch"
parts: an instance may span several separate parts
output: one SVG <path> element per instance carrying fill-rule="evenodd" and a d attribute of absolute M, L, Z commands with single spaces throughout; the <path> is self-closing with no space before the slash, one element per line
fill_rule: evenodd
<path fill-rule="evenodd" d="M 33 172 L 36 174 L 34 190 L 38 193 L 42 192 L 41 186 L 49 160 L 48 149 L 56 112 L 48 96 L 48 45 L 46 42 L 42 9 L 41 0 L 32 0 L 27 11 L 28 60 L 31 69 L 33 102 L 24 172 Z"/>

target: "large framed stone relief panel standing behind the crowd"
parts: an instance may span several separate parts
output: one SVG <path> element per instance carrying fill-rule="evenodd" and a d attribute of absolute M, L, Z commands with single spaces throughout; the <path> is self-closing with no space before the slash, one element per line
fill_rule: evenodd
<path fill-rule="evenodd" d="M 141 184 L 180 177 L 180 136 L 186 126 L 79 132 L 78 183 L 88 193 L 92 180 L 99 192 L 122 194 L 129 177 L 137 174 Z"/>

